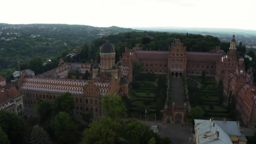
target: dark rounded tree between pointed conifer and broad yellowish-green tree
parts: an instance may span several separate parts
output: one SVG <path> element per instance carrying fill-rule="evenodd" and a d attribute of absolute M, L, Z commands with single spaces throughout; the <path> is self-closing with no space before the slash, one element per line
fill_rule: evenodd
<path fill-rule="evenodd" d="M 51 129 L 60 143 L 71 144 L 77 138 L 77 125 L 67 112 L 59 112 L 51 119 Z"/>

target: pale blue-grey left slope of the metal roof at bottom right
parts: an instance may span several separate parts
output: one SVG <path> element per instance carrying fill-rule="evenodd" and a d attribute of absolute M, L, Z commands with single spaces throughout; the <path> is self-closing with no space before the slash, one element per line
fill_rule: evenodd
<path fill-rule="evenodd" d="M 229 135 L 214 121 L 195 120 L 199 144 L 232 144 Z M 218 134 L 219 133 L 219 134 Z M 218 136 L 219 135 L 219 136 Z"/>

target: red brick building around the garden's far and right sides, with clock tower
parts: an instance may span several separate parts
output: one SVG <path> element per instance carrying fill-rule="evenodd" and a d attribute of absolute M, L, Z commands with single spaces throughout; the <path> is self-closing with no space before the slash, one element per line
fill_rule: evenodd
<path fill-rule="evenodd" d="M 210 52 L 186 51 L 186 47 L 180 40 L 175 40 L 169 51 L 143 51 L 139 45 L 136 45 L 132 49 L 125 48 L 121 61 L 123 63 L 133 60 L 139 61 L 142 65 L 141 73 L 155 72 L 156 74 L 171 74 L 173 77 L 181 77 L 184 74 L 202 75 L 202 71 L 205 70 L 206 75 L 215 77 L 216 81 L 223 80 L 224 94 L 228 96 L 229 92 L 232 91 L 237 97 L 237 93 L 243 85 L 253 83 L 253 73 L 252 68 L 245 69 L 243 58 L 237 58 L 236 45 L 235 35 L 230 41 L 227 53 L 221 50 L 219 46 Z M 250 104 L 254 102 L 253 99 L 246 99 L 246 101 Z M 254 106 L 250 105 L 250 107 L 254 109 Z M 241 105 L 240 109 L 248 109 L 248 107 Z M 249 113 L 246 115 L 248 116 Z M 254 117 L 253 115 L 256 113 L 252 112 L 250 117 Z"/>

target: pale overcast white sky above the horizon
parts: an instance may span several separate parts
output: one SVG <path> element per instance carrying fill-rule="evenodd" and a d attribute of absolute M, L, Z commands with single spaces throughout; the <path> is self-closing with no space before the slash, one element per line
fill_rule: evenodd
<path fill-rule="evenodd" d="M 0 0 L 0 23 L 256 30 L 256 0 Z"/>

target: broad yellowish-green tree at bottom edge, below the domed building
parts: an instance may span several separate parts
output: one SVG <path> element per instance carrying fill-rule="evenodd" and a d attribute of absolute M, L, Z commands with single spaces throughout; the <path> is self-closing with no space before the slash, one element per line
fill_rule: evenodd
<path fill-rule="evenodd" d="M 120 136 L 122 125 L 108 116 L 94 121 L 83 132 L 83 144 L 113 144 Z"/>

